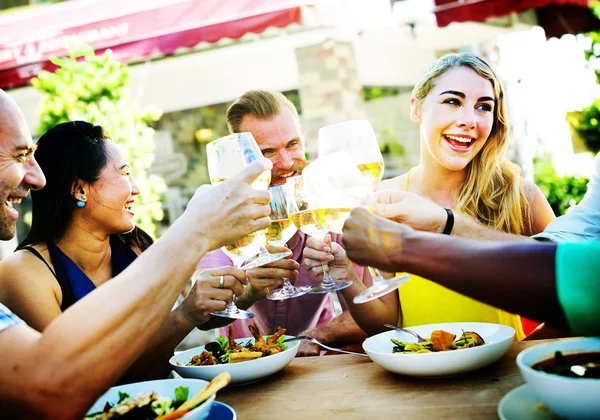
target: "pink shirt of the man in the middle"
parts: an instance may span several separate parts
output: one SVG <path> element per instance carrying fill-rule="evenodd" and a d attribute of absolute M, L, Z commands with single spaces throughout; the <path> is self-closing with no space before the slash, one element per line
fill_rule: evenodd
<path fill-rule="evenodd" d="M 342 245 L 342 235 L 330 233 L 331 240 Z M 299 240 L 298 240 L 299 237 Z M 314 284 L 308 277 L 304 264 L 302 264 L 302 250 L 306 245 L 308 236 L 298 232 L 289 242 L 288 246 L 298 240 L 297 245 L 292 249 L 292 258 L 300 263 L 298 277 L 290 279 L 294 286 L 304 284 Z M 342 245 L 343 246 L 343 245 Z M 207 253 L 198 264 L 198 268 L 214 268 L 226 265 L 233 265 L 229 257 L 220 249 Z M 355 265 L 354 270 L 359 278 L 362 278 L 364 268 Z M 256 322 L 260 332 L 263 335 L 271 335 L 280 328 L 285 328 L 286 334 L 298 335 L 302 331 L 314 328 L 318 325 L 329 323 L 335 317 L 333 301 L 329 293 L 325 294 L 306 294 L 294 299 L 287 300 L 269 300 L 263 299 L 252 305 L 249 310 L 255 313 L 251 319 L 237 319 L 233 322 L 233 331 L 235 338 L 250 337 L 248 325 Z M 227 328 L 220 328 L 217 334 L 227 335 Z"/>

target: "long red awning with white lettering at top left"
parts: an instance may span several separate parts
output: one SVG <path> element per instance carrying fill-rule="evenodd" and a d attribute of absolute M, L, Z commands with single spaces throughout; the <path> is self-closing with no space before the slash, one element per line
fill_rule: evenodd
<path fill-rule="evenodd" d="M 0 88 L 26 84 L 83 41 L 122 62 L 271 26 L 318 21 L 309 0 L 71 0 L 0 15 Z"/>

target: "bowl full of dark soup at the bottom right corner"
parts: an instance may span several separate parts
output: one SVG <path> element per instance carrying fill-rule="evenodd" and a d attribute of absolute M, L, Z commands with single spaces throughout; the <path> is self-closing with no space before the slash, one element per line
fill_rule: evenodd
<path fill-rule="evenodd" d="M 517 366 L 542 404 L 557 416 L 600 419 L 600 338 L 538 344 L 519 353 Z"/>

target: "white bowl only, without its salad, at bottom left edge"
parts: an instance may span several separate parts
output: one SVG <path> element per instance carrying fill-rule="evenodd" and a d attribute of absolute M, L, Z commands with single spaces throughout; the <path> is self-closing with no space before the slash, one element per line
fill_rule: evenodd
<path fill-rule="evenodd" d="M 206 385 L 208 385 L 207 381 L 199 379 L 160 379 L 157 381 L 136 382 L 133 384 L 113 386 L 106 391 L 103 396 L 98 398 L 92 408 L 89 409 L 88 414 L 102 411 L 107 402 L 116 404 L 119 401 L 119 392 L 126 392 L 133 397 L 141 392 L 154 391 L 159 397 L 174 398 L 175 388 L 178 386 L 187 386 L 190 391 L 188 398 L 191 398 L 200 390 L 204 389 Z M 208 400 L 204 401 L 182 418 L 186 420 L 200 420 L 205 418 L 208 416 L 210 406 L 214 400 L 215 396 L 212 395 Z"/>

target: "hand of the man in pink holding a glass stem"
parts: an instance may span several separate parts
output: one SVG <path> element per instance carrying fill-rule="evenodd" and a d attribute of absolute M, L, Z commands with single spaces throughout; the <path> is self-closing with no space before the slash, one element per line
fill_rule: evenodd
<path fill-rule="evenodd" d="M 287 247 L 267 245 L 270 253 L 289 251 Z M 247 299 L 254 302 L 264 299 L 270 288 L 277 288 L 283 284 L 283 279 L 293 279 L 298 276 L 300 264 L 291 258 L 282 258 L 262 267 L 246 271 L 250 286 L 246 290 Z"/>

